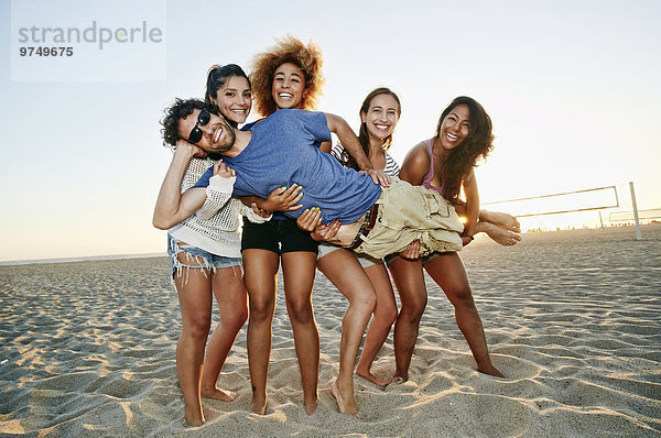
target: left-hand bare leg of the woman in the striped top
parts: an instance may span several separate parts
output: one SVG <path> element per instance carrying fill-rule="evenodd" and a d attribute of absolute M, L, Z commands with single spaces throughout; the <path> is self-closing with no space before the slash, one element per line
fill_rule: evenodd
<path fill-rule="evenodd" d="M 362 335 L 375 308 L 375 291 L 362 266 L 349 251 L 333 251 L 317 263 L 319 271 L 349 300 L 349 307 L 342 320 L 339 373 L 330 393 L 337 401 L 340 413 L 358 416 L 354 393 L 354 366 Z"/>

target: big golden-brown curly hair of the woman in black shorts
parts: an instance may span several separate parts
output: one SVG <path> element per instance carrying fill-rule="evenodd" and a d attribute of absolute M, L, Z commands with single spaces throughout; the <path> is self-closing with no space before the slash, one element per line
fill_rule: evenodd
<path fill-rule="evenodd" d="M 286 35 L 268 51 L 254 55 L 251 64 L 252 96 L 257 111 L 263 117 L 278 110 L 273 100 L 273 76 L 282 64 L 292 63 L 305 75 L 305 94 L 301 108 L 315 109 L 326 79 L 322 73 L 322 50 L 312 41 L 305 45 L 293 35 Z"/>

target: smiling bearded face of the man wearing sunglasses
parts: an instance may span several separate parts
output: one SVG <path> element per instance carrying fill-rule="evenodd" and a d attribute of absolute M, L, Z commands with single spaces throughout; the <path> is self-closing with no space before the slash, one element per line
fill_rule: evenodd
<path fill-rule="evenodd" d="M 229 125 L 225 118 L 210 114 L 207 123 L 199 124 L 198 116 L 201 110 L 195 109 L 193 113 L 187 117 L 180 119 L 178 121 L 178 134 L 185 141 L 191 138 L 191 132 L 197 128 L 202 130 L 202 139 L 194 143 L 208 153 L 223 153 L 229 151 L 236 141 L 236 134 L 234 128 Z"/>

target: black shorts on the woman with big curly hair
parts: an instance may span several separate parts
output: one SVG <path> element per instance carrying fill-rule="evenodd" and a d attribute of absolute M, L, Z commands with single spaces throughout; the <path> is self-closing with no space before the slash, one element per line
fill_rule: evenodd
<path fill-rule="evenodd" d="M 317 242 L 306 231 L 301 231 L 293 219 L 271 219 L 252 223 L 243 218 L 241 251 L 267 250 L 275 254 L 306 251 L 317 253 Z"/>

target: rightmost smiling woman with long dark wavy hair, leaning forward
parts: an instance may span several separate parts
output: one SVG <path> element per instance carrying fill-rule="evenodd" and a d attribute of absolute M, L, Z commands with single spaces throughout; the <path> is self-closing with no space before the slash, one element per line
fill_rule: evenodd
<path fill-rule="evenodd" d="M 462 204 L 459 191 L 463 188 L 466 197 L 465 206 L 462 206 L 466 217 L 462 234 L 464 245 L 473 241 L 478 230 L 479 195 L 474 166 L 491 152 L 492 140 L 491 119 L 481 105 L 469 97 L 457 97 L 441 114 L 434 138 L 413 147 L 400 172 L 401 179 L 436 190 L 457 206 Z M 470 347 L 477 370 L 505 377 L 491 363 L 483 324 L 459 254 L 433 253 L 414 260 L 394 256 L 389 262 L 401 298 L 394 325 L 395 380 L 409 379 L 420 319 L 426 306 L 423 267 L 453 304 L 457 326 Z"/>

